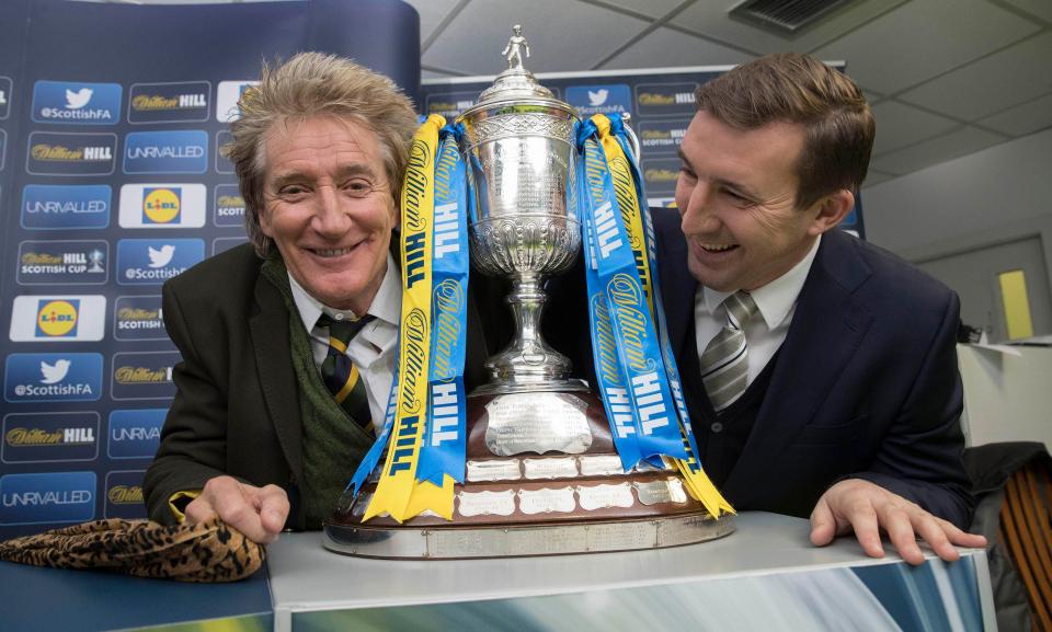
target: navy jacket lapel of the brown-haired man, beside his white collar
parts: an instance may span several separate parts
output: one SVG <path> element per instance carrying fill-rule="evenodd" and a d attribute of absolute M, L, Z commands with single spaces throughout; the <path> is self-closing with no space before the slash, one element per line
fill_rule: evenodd
<path fill-rule="evenodd" d="M 764 404 L 724 485 L 739 503 L 758 492 L 752 482 L 762 480 L 769 463 L 814 417 L 872 323 L 872 313 L 854 296 L 870 275 L 854 239 L 838 229 L 822 238 Z"/>

